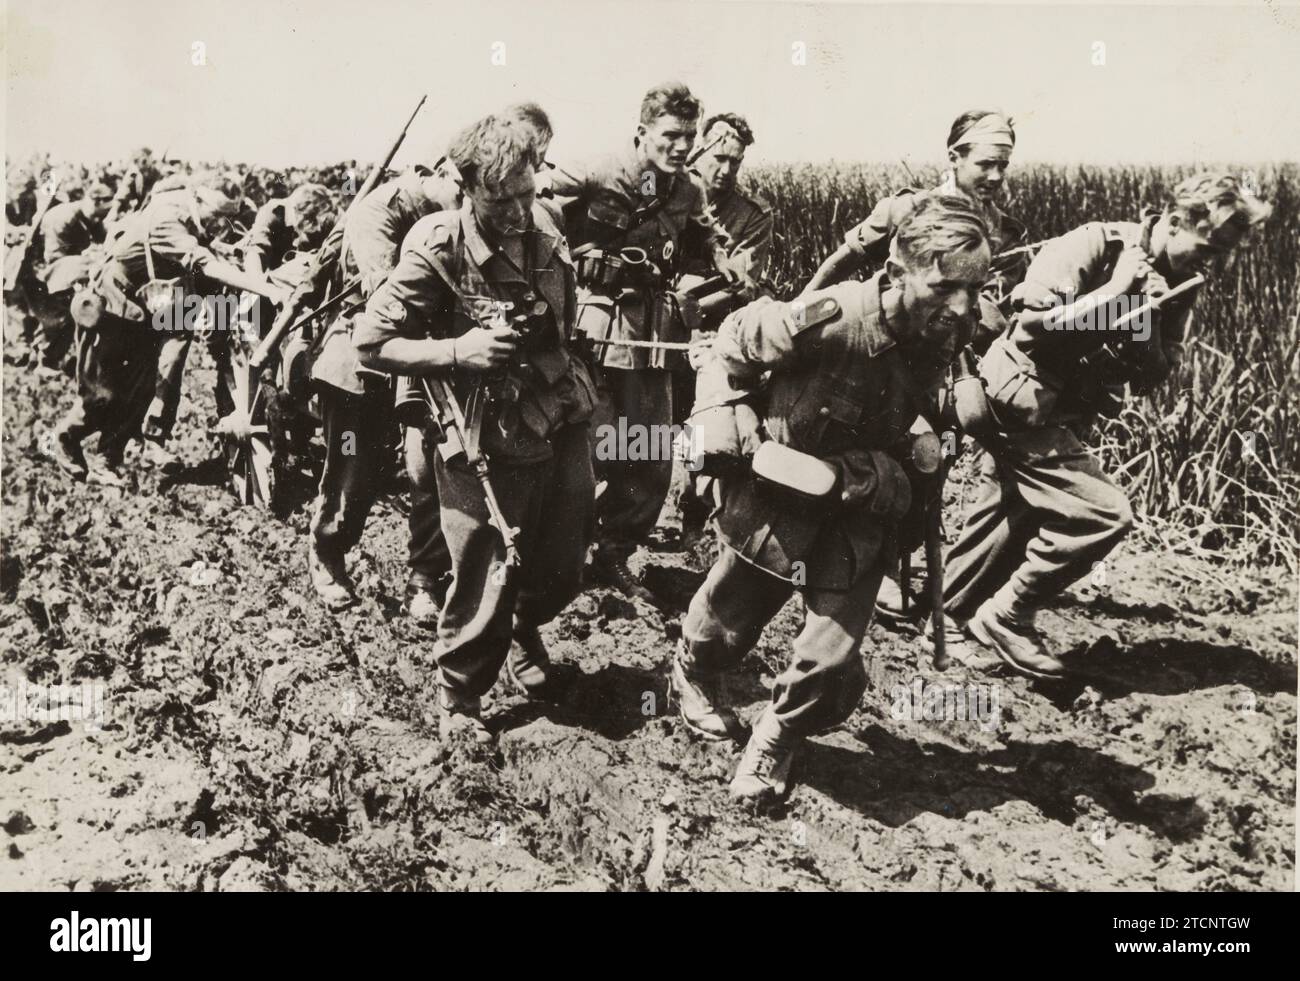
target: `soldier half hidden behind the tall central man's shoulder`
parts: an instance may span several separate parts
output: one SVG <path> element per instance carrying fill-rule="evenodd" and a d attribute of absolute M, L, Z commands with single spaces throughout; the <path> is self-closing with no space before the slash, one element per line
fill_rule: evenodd
<path fill-rule="evenodd" d="M 738 260 L 745 274 L 740 288 L 718 290 L 699 301 L 697 330 L 711 333 L 731 311 L 759 296 L 758 282 L 767 273 L 772 251 L 772 209 L 767 201 L 749 197 L 736 187 L 745 151 L 754 143 L 754 133 L 742 116 L 720 113 L 710 117 L 701 139 L 706 149 L 699 155 L 694 173 L 705 185 L 710 213 L 725 233 L 727 252 Z M 707 275 L 711 259 L 708 266 L 701 269 L 699 249 L 689 238 L 682 243 L 682 252 L 686 256 L 684 272 Z M 699 282 L 698 277 L 682 275 L 677 287 L 689 288 Z M 677 425 L 686 422 L 694 404 L 696 372 L 679 360 L 673 364 L 672 376 L 672 421 Z M 681 541 L 690 548 L 703 534 L 710 507 L 697 494 L 696 479 L 689 473 L 677 507 L 681 511 Z"/>

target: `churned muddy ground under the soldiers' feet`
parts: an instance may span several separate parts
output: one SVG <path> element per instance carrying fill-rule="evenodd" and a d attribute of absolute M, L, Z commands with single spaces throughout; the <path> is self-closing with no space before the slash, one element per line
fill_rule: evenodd
<path fill-rule="evenodd" d="M 688 737 L 666 706 L 702 578 L 666 515 L 636 557 L 662 608 L 585 592 L 543 631 L 568 698 L 500 685 L 499 754 L 448 755 L 425 717 L 432 638 L 400 613 L 400 498 L 351 556 L 360 605 L 325 612 L 306 578 L 311 486 L 283 518 L 234 503 L 199 360 L 187 469 L 136 468 L 125 494 L 38 452 L 70 383 L 4 369 L 0 682 L 103 682 L 108 719 L 0 722 L 3 889 L 1294 885 L 1296 599 L 1279 573 L 1130 539 L 1104 586 L 1044 615 L 1076 669 L 1057 685 L 941 676 L 872 626 L 858 711 L 809 746 L 783 809 L 753 813 L 727 799 L 738 747 Z M 796 617 L 736 678 L 746 717 Z M 996 724 L 896 719 L 916 678 L 992 686 Z"/>

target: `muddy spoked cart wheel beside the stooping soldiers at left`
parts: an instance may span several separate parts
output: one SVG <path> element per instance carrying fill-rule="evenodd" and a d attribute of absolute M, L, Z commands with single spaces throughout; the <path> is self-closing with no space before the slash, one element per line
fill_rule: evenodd
<path fill-rule="evenodd" d="M 268 414 L 270 386 L 248 366 L 248 351 L 231 335 L 230 356 L 221 370 L 234 408 L 216 425 L 225 440 L 226 470 L 240 504 L 270 508 L 276 492 L 274 448 Z"/>

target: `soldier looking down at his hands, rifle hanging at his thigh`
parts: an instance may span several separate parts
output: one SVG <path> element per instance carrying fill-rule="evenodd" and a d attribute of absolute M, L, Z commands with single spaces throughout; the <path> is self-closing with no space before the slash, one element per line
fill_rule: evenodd
<path fill-rule="evenodd" d="M 534 201 L 532 134 L 515 118 L 488 117 L 455 139 L 450 157 L 465 201 L 434 216 L 425 240 L 403 253 L 358 318 L 356 346 L 370 368 L 451 383 L 506 524 L 519 529 L 523 564 L 511 570 L 467 453 L 426 442 L 452 563 L 434 655 L 439 728 L 445 739 L 460 729 L 491 742 L 481 696 L 507 657 L 526 693 L 545 691 L 549 656 L 537 628 L 580 587 L 594 507 L 595 389 L 568 351 L 575 274 L 563 236 Z"/>

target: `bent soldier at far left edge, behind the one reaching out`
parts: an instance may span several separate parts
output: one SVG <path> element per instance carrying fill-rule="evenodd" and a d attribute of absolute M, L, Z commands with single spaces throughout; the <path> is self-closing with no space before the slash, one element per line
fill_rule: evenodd
<path fill-rule="evenodd" d="M 113 191 L 92 185 L 79 201 L 58 204 L 40 222 L 44 242 L 44 268 L 39 273 L 46 296 L 36 304 L 39 326 L 32 338 L 32 360 L 38 368 L 56 372 L 72 347 L 74 325 L 69 313 L 73 290 L 90 279 L 91 265 L 101 257 L 104 218 L 113 204 Z"/>

